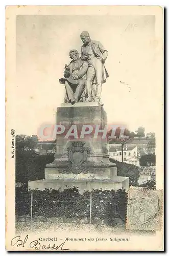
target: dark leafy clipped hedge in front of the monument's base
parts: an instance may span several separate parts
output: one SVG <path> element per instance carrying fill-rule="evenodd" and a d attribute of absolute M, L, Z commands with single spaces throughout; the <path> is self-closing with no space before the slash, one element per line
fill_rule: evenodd
<path fill-rule="evenodd" d="M 30 215 L 31 192 L 26 186 L 16 187 L 16 216 Z M 92 219 L 112 224 L 116 218 L 125 222 L 127 193 L 125 190 L 92 191 Z M 90 193 L 79 194 L 77 187 L 63 191 L 55 189 L 33 190 L 33 217 L 89 218 Z"/>

